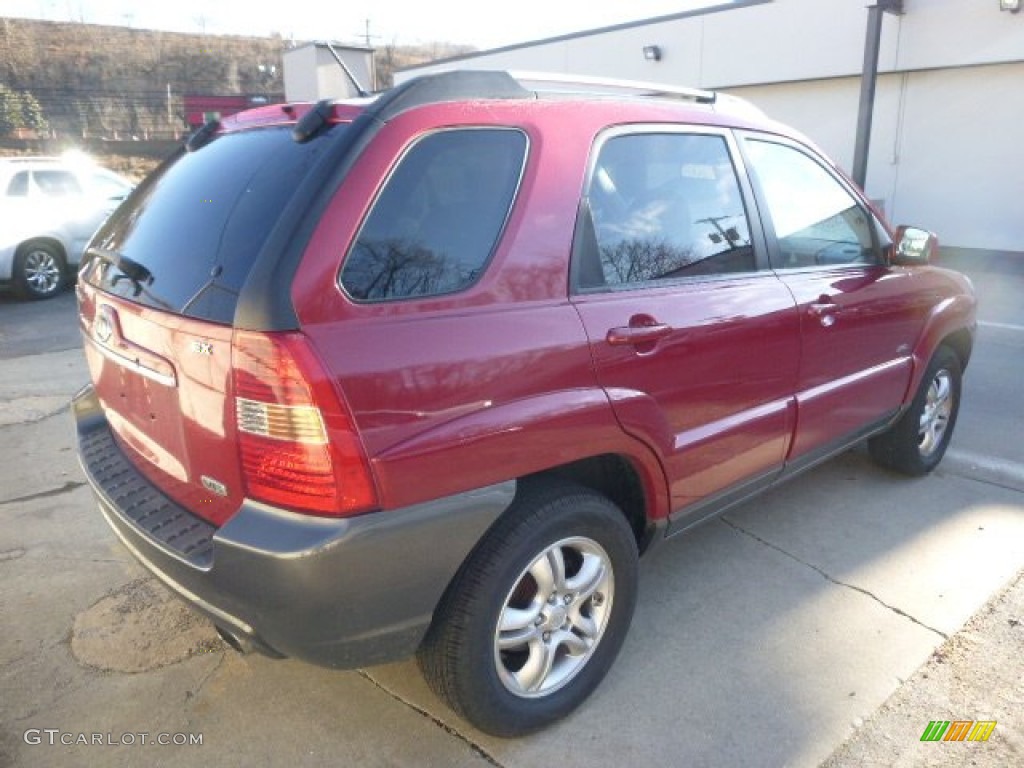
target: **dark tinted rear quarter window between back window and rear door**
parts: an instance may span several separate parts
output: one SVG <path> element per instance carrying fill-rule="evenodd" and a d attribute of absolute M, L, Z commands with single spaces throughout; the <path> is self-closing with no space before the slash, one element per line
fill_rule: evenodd
<path fill-rule="evenodd" d="M 461 291 L 482 273 L 522 174 L 526 137 L 512 129 L 453 129 L 399 161 L 341 269 L 356 301 Z"/>

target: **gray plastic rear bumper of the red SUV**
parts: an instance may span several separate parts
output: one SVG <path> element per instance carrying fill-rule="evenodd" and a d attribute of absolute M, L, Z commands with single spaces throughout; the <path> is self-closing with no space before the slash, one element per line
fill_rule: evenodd
<path fill-rule="evenodd" d="M 243 645 L 330 667 L 415 652 L 444 589 L 515 495 L 509 481 L 351 518 L 246 502 L 215 528 L 134 468 L 92 387 L 72 413 L 99 508 L 142 565 Z"/>

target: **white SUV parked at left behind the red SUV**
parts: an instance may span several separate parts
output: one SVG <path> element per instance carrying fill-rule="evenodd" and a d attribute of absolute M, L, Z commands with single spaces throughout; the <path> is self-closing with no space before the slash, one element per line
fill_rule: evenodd
<path fill-rule="evenodd" d="M 86 160 L 0 159 L 0 283 L 29 299 L 55 295 L 131 189 Z"/>

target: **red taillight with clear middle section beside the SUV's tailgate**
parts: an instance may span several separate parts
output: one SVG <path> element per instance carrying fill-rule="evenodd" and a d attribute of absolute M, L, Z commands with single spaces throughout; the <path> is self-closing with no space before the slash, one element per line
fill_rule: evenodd
<path fill-rule="evenodd" d="M 376 506 L 351 414 L 302 335 L 237 331 L 231 369 L 251 499 L 327 515 Z"/>

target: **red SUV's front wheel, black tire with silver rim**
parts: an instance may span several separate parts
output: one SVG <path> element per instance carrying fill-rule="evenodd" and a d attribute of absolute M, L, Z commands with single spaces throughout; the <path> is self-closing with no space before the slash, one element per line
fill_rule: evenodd
<path fill-rule="evenodd" d="M 963 369 L 947 346 L 932 356 L 910 408 L 885 434 L 868 440 L 871 458 L 884 467 L 920 476 L 946 453 L 959 413 Z"/>

